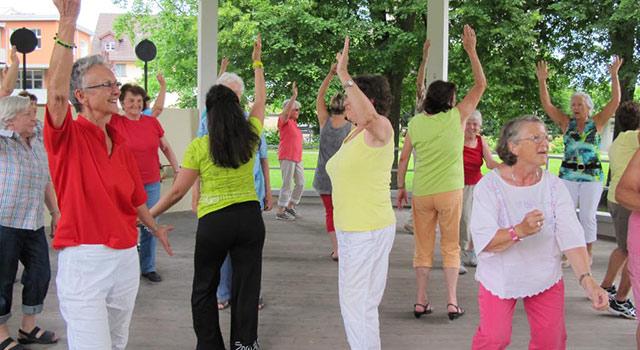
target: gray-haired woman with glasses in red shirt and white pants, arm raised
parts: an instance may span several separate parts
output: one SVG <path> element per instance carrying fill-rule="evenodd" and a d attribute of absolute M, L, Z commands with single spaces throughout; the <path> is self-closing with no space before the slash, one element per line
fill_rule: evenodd
<path fill-rule="evenodd" d="M 170 227 L 145 204 L 125 138 L 108 122 L 120 83 L 101 56 L 73 63 L 79 0 L 54 0 L 60 13 L 49 65 L 44 142 L 62 213 L 53 247 L 68 348 L 122 350 L 140 283 L 136 221 L 171 255 Z M 72 118 L 71 100 L 79 115 Z"/>

